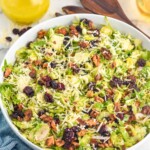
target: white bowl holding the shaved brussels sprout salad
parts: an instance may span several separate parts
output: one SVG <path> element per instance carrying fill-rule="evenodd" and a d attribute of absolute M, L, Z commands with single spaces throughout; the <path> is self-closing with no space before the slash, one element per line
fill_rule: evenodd
<path fill-rule="evenodd" d="M 68 25 L 71 23 L 72 20 L 75 19 L 75 17 L 90 19 L 95 24 L 98 24 L 98 25 L 105 24 L 104 16 L 94 15 L 94 14 L 66 15 L 66 16 L 50 19 L 48 21 L 45 21 L 43 23 L 36 25 L 32 29 L 30 29 L 28 32 L 23 34 L 9 49 L 4 60 L 6 59 L 8 63 L 14 63 L 16 50 L 18 50 L 22 46 L 25 46 L 29 41 L 34 40 L 37 36 L 37 32 L 40 29 L 49 29 L 51 27 L 55 27 L 55 26 L 59 26 L 59 25 Z M 127 33 L 127 34 L 131 34 L 135 38 L 141 39 L 143 42 L 143 47 L 145 47 L 147 49 L 150 48 L 150 40 L 145 35 L 143 35 L 141 32 L 139 32 L 137 29 L 133 28 L 132 26 L 130 26 L 122 21 L 119 21 L 119 20 L 116 20 L 113 18 L 108 17 L 108 20 L 113 28 L 115 28 L 121 32 Z M 0 67 L 0 83 L 3 82 L 2 66 L 4 64 L 4 60 Z M 0 107 L 1 107 L 2 113 L 3 113 L 7 123 L 9 124 L 11 129 L 16 133 L 16 135 L 22 141 L 24 141 L 27 145 L 29 145 L 31 148 L 36 149 L 36 150 L 41 150 L 40 147 L 38 147 L 37 145 L 28 141 L 25 137 L 23 137 L 21 135 L 21 133 L 18 131 L 18 129 L 15 127 L 15 125 L 12 123 L 10 117 L 8 116 L 7 110 L 5 109 L 1 99 L 0 99 Z M 140 141 L 136 145 L 129 148 L 128 150 L 135 150 L 135 149 L 138 150 L 138 149 L 140 149 L 139 148 L 140 145 L 146 143 L 146 141 L 148 141 L 148 140 L 150 140 L 150 134 L 147 135 L 142 141 Z"/>

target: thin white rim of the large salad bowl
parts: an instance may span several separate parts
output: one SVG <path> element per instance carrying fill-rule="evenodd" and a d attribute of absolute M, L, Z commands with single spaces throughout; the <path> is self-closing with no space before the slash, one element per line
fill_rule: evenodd
<path fill-rule="evenodd" d="M 32 27 L 29 31 L 27 31 L 26 33 L 24 33 L 21 37 L 19 37 L 15 42 L 14 44 L 8 49 L 7 53 L 5 54 L 3 60 L 2 60 L 2 63 L 0 65 L 0 78 L 2 76 L 2 81 L 3 81 L 3 74 L 2 74 L 2 66 L 4 64 L 4 60 L 6 59 L 7 56 L 9 56 L 10 54 L 10 51 L 11 49 L 13 49 L 20 41 L 22 41 L 28 33 L 35 33 L 35 29 L 38 29 L 39 27 L 42 27 L 43 25 L 47 25 L 49 23 L 51 23 L 52 21 L 58 21 L 60 20 L 60 18 L 64 18 L 64 19 L 67 19 L 68 17 L 72 17 L 72 18 L 75 18 L 75 17 L 78 17 L 78 18 L 88 18 L 88 16 L 93 16 L 93 17 L 99 17 L 99 19 L 104 19 L 105 16 L 103 15 L 97 15 L 97 14 L 85 14 L 85 13 L 80 13 L 80 14 L 71 14 L 71 15 L 65 15 L 65 16 L 60 16 L 60 17 L 55 17 L 55 18 L 51 18 L 49 20 L 46 20 L 44 22 L 41 22 L 37 25 L 35 25 L 34 27 Z M 148 41 L 150 43 L 150 39 L 148 37 L 146 37 L 142 32 L 140 32 L 139 30 L 137 30 L 136 28 L 134 28 L 133 26 L 123 22 L 123 21 L 120 21 L 118 19 L 114 19 L 114 18 L 111 18 L 111 17 L 107 17 L 108 20 L 110 21 L 115 21 L 116 23 L 118 24 L 124 24 L 125 26 L 129 27 L 131 30 L 133 30 L 133 32 L 136 32 L 137 34 L 139 34 L 140 36 L 143 36 L 143 38 Z M 49 27 L 51 28 L 51 27 Z M 37 32 L 36 32 L 37 33 Z M 131 34 L 132 35 L 132 34 Z M 0 79 L 1 80 L 1 79 Z M 1 83 L 1 81 L 0 81 Z M 21 132 L 19 132 L 19 130 L 17 129 L 17 127 L 12 123 L 11 119 L 9 118 L 8 114 L 7 114 L 7 109 L 5 108 L 3 102 L 2 102 L 2 98 L 1 98 L 1 95 L 0 95 L 0 109 L 2 111 L 2 114 L 6 120 L 6 122 L 8 123 L 9 127 L 12 129 L 12 131 L 17 135 L 17 137 L 19 137 L 25 144 L 27 144 L 29 147 L 33 148 L 33 149 L 37 149 L 37 150 L 41 150 L 42 148 L 37 146 L 36 144 L 32 143 L 30 140 L 28 140 L 27 138 L 25 138 Z M 150 134 L 147 134 L 145 136 L 145 138 L 143 138 L 141 141 L 139 141 L 138 143 L 136 143 L 135 145 L 133 145 L 132 147 L 128 148 L 128 150 L 135 150 L 137 149 L 140 145 L 142 145 L 146 140 L 150 139 Z"/>

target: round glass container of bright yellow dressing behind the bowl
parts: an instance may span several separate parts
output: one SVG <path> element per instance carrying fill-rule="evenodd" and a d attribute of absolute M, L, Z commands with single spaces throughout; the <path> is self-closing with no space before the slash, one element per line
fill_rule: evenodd
<path fill-rule="evenodd" d="M 49 2 L 50 0 L 0 0 L 0 6 L 11 20 L 30 24 L 45 14 Z"/>

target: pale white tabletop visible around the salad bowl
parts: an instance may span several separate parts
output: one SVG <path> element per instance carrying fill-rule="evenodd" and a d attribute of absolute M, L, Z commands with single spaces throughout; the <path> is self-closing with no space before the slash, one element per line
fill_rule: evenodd
<path fill-rule="evenodd" d="M 149 20 L 145 19 L 138 12 L 135 0 L 118 0 L 118 1 L 121 4 L 127 16 L 130 18 L 130 20 L 132 20 L 132 22 L 135 25 L 137 25 L 140 29 L 142 29 L 145 33 L 150 35 L 150 19 Z M 39 22 L 54 17 L 55 12 L 62 12 L 61 8 L 66 5 L 81 6 L 80 0 L 51 0 L 50 9 Z M 36 25 L 37 23 L 35 23 L 34 25 Z M 18 27 L 18 25 L 11 22 L 0 11 L 0 63 L 5 53 L 7 52 L 8 47 L 11 46 L 11 44 L 13 44 L 13 42 L 15 42 L 15 40 L 17 39 L 17 36 L 13 37 L 14 41 L 11 44 L 8 44 L 5 41 L 5 37 L 11 35 L 12 29 L 14 27 Z M 150 150 L 150 140 L 146 141 L 137 150 Z"/>

